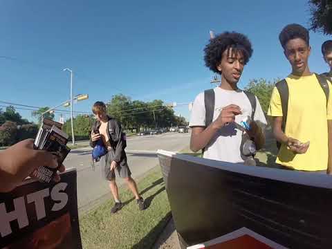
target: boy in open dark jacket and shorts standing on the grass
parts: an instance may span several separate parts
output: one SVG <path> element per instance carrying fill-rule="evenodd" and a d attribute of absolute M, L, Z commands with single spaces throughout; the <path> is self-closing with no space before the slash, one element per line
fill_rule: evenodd
<path fill-rule="evenodd" d="M 142 196 L 138 194 L 136 182 L 131 178 L 131 172 L 127 164 L 127 156 L 124 151 L 127 142 L 124 133 L 122 133 L 121 124 L 114 118 L 107 116 L 104 102 L 95 102 L 92 112 L 96 121 L 92 127 L 90 145 L 93 148 L 98 147 L 99 153 L 104 151 L 104 155 L 98 154 L 96 156 L 100 160 L 104 178 L 109 181 L 109 187 L 115 201 L 111 213 L 118 212 L 123 206 L 119 198 L 118 185 L 116 185 L 115 170 L 118 171 L 121 178 L 124 178 L 129 189 L 133 192 L 138 208 L 145 210 L 145 202 Z M 100 146 L 103 146 L 104 150 Z"/>

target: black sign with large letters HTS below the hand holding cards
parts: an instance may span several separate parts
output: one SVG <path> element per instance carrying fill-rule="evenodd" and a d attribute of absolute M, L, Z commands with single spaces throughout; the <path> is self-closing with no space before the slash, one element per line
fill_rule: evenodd
<path fill-rule="evenodd" d="M 0 248 L 82 248 L 76 170 L 59 183 L 27 180 L 0 193 Z"/>

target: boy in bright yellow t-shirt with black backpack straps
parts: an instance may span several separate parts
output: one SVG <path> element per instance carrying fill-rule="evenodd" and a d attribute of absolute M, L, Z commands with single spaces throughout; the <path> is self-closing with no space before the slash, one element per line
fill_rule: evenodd
<path fill-rule="evenodd" d="M 309 70 L 311 47 L 306 28 L 290 24 L 279 41 L 292 73 L 276 84 L 268 109 L 274 136 L 281 144 L 276 162 L 287 169 L 332 172 L 331 83 Z M 282 83 L 286 98 L 280 94 Z"/>

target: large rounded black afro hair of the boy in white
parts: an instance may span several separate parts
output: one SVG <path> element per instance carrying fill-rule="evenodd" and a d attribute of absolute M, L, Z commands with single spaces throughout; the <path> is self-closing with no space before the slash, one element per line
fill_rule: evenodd
<path fill-rule="evenodd" d="M 220 64 L 223 52 L 228 48 L 240 50 L 243 53 L 244 64 L 248 63 L 252 55 L 252 46 L 248 37 L 236 32 L 225 32 L 210 39 L 210 43 L 205 46 L 205 66 L 214 73 L 220 73 L 216 66 Z"/>

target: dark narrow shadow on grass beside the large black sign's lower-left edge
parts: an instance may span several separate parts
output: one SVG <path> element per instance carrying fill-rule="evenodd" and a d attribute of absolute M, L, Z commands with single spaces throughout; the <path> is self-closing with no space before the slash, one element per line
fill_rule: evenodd
<path fill-rule="evenodd" d="M 164 187 L 165 188 L 165 187 Z M 160 189 L 161 190 L 161 189 Z M 158 239 L 158 236 L 160 232 L 162 232 L 167 225 L 169 219 L 172 217 L 172 212 L 169 211 L 163 219 L 159 221 L 159 223 L 151 229 L 151 231 L 144 237 L 142 238 L 136 245 L 134 245 L 132 248 L 134 249 L 146 249 L 146 248 L 151 248 L 154 243 L 156 242 L 156 239 Z"/>

